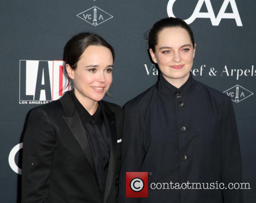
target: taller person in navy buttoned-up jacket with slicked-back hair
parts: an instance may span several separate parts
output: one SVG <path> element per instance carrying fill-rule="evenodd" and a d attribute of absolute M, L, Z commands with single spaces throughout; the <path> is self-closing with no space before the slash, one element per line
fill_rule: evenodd
<path fill-rule="evenodd" d="M 242 190 L 228 188 L 242 177 L 232 102 L 193 79 L 191 28 L 178 18 L 159 20 L 148 44 L 159 81 L 124 107 L 119 202 L 242 203 Z M 125 172 L 150 172 L 148 198 L 125 198 Z"/>

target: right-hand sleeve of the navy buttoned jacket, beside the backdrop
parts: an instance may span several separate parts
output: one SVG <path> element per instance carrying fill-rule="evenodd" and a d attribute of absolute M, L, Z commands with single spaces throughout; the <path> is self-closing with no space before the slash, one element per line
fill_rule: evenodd
<path fill-rule="evenodd" d="M 222 123 L 222 183 L 227 189 L 222 190 L 224 203 L 242 203 L 241 189 L 230 190 L 229 183 L 242 183 L 242 164 L 236 118 L 232 101 L 225 105 Z M 230 184 L 230 186 L 231 186 Z"/>

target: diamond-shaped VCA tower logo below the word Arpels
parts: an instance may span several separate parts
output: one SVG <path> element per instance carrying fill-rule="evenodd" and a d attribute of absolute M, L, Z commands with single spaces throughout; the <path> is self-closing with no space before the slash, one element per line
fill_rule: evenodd
<path fill-rule="evenodd" d="M 223 91 L 223 93 L 227 94 L 231 98 L 231 100 L 236 103 L 253 95 L 251 91 L 245 89 L 240 85 L 235 85 L 234 87 L 231 87 L 226 91 Z"/>

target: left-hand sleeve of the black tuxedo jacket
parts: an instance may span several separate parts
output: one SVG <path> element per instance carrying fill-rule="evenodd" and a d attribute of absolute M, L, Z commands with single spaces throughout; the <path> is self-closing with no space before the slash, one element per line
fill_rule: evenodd
<path fill-rule="evenodd" d="M 23 138 L 22 203 L 43 203 L 49 194 L 55 135 L 48 115 L 33 109 Z"/>

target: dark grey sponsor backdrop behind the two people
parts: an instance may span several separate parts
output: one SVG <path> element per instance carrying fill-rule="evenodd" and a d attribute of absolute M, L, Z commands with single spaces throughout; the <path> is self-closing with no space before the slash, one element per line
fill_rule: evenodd
<path fill-rule="evenodd" d="M 198 3 L 198 0 L 170 1 L 174 2 L 174 15 L 182 19 L 188 19 Z M 227 13 L 234 13 L 236 5 L 239 13 L 236 18 L 240 18 L 242 22 L 242 26 L 237 26 L 234 18 L 223 18 L 218 26 L 214 26 L 210 18 L 196 18 L 190 25 L 197 44 L 193 69 L 199 69 L 198 73 L 194 72 L 197 74 L 194 78 L 222 92 L 228 90 L 226 93 L 236 101 L 233 105 L 241 143 L 243 180 L 251 186 L 251 190 L 244 191 L 244 199 L 245 203 L 252 203 L 256 199 L 255 1 L 199 0 L 199 3 L 201 1 L 204 3 L 200 12 L 210 12 L 212 8 L 215 17 L 223 4 L 228 3 L 225 9 Z M 17 167 L 21 168 L 19 157 L 22 155 L 22 149 L 18 151 L 14 147 L 17 145 L 16 148 L 21 148 L 22 144 L 19 143 L 22 142 L 26 114 L 38 105 L 20 104 L 20 93 L 24 97 L 25 88 L 33 89 L 36 85 L 26 83 L 24 75 L 31 81 L 38 75 L 29 73 L 33 67 L 29 66 L 26 60 L 47 60 L 50 61 L 49 64 L 52 60 L 62 60 L 63 48 L 68 39 L 78 32 L 96 32 L 112 44 L 116 51 L 113 84 L 110 89 L 112 97 L 105 99 L 124 105 L 157 81 L 157 75 L 154 75 L 155 66 L 148 57 L 144 34 L 157 20 L 168 16 L 168 2 L 169 0 L 1 1 L 1 202 L 19 202 L 20 175 L 17 172 L 20 171 Z M 94 6 L 97 10 L 97 26 L 92 25 Z M 90 8 L 92 9 L 86 11 Z M 86 17 L 88 22 L 77 15 Z M 111 18 L 108 19 L 109 17 Z M 25 63 L 21 62 L 21 67 L 20 60 L 25 60 Z M 27 64 L 26 70 L 24 64 Z M 200 67 L 203 67 L 202 75 Z M 214 72 L 215 75 L 211 73 L 212 68 L 217 71 Z M 52 80 L 52 72 L 50 71 L 49 75 L 46 72 L 44 77 L 50 77 Z M 241 76 L 237 77 L 237 73 Z M 39 85 L 42 84 L 44 85 Z M 44 91 L 42 90 L 41 94 L 44 94 Z M 12 149 L 13 153 L 10 155 Z"/>

